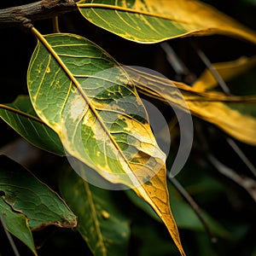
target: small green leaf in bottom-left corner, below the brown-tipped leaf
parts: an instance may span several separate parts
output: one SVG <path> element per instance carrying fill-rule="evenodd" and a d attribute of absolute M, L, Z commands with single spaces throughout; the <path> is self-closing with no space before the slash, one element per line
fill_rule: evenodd
<path fill-rule="evenodd" d="M 0 198 L 0 214 L 9 233 L 24 242 L 26 246 L 32 250 L 34 255 L 38 255 L 26 216 L 23 213 L 14 212 L 13 209 L 3 201 L 2 197 Z"/>

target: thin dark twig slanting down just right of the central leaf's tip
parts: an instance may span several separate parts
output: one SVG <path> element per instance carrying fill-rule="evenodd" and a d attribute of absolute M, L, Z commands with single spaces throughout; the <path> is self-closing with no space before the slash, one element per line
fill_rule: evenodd
<path fill-rule="evenodd" d="M 183 188 L 182 184 L 177 181 L 175 177 L 170 177 L 169 173 L 167 174 L 167 177 L 172 182 L 174 187 L 177 189 L 177 191 L 180 193 L 180 195 L 183 196 L 183 198 L 189 203 L 189 205 L 194 210 L 195 214 L 198 216 L 198 218 L 201 220 L 201 224 L 203 224 L 205 230 L 207 231 L 208 236 L 210 237 L 212 243 L 217 243 L 218 239 L 216 236 L 212 234 L 212 231 L 210 230 L 206 219 L 203 217 L 201 213 L 201 208 L 197 205 L 195 200 L 192 198 L 191 195 L 186 191 L 186 189 Z"/>

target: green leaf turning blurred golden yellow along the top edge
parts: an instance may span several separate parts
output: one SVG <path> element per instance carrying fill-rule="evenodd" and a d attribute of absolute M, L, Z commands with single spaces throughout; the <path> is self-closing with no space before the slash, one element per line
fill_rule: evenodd
<path fill-rule="evenodd" d="M 78 7 L 90 22 L 139 43 L 213 33 L 256 43 L 255 32 L 196 0 L 81 0 Z"/>

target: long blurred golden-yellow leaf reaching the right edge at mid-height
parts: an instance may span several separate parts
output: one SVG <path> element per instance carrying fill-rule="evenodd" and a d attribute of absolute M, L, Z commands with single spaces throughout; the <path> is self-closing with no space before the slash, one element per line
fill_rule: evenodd
<path fill-rule="evenodd" d="M 189 109 L 195 116 L 217 125 L 237 140 L 256 145 L 255 96 L 225 96 L 217 91 L 202 92 L 149 73 L 136 75 L 137 71 L 132 69 L 128 72 L 137 89 L 144 94 L 171 103 L 183 111 L 188 112 Z M 177 93 L 177 88 L 182 91 L 182 95 Z"/>

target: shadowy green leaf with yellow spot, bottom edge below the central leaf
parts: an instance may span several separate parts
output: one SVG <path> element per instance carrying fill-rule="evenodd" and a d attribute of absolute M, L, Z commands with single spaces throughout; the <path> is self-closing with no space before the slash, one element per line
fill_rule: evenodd
<path fill-rule="evenodd" d="M 78 230 L 94 255 L 126 255 L 129 220 L 116 192 L 85 182 L 70 167 L 61 173 L 61 195 L 78 216 Z M 119 206 L 118 206 L 119 205 Z"/>

